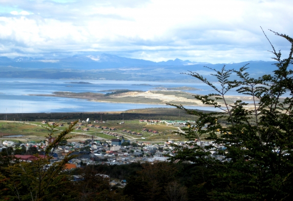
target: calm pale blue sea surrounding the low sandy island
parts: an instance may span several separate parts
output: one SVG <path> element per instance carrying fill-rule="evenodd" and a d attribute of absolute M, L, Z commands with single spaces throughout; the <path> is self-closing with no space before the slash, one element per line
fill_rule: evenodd
<path fill-rule="evenodd" d="M 92 84 L 74 84 L 69 82 L 89 82 Z M 67 82 L 67 83 L 66 83 Z M 140 85 L 147 84 L 147 85 Z M 213 93 L 212 88 L 201 83 L 172 83 L 172 82 L 138 82 L 138 81 L 109 81 L 109 80 L 50 80 L 50 79 L 0 79 L 0 113 L 29 113 L 29 112 L 93 112 L 93 111 L 124 111 L 141 108 L 170 108 L 166 105 L 100 103 L 84 99 L 30 96 L 28 94 L 51 94 L 54 91 L 99 92 L 105 90 L 155 90 L 156 87 L 194 87 L 202 91 L 188 91 L 196 94 Z M 229 95 L 239 95 L 231 91 Z M 191 107 L 189 109 L 203 109 Z M 205 110 L 215 110 L 205 107 Z"/>

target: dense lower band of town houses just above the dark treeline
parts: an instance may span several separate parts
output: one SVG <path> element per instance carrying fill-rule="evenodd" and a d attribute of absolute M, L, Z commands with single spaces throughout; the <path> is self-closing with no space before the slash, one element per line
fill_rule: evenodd
<path fill-rule="evenodd" d="M 117 136 L 115 136 L 117 137 Z M 119 136 L 118 136 L 119 137 Z M 45 144 L 30 142 L 26 144 L 21 144 L 18 146 L 25 146 L 26 149 L 30 146 L 35 146 L 39 149 L 39 155 L 43 156 L 43 151 L 40 148 L 45 148 L 48 143 L 54 142 L 55 138 L 47 138 L 45 140 Z M 87 141 L 87 142 L 86 142 Z M 79 143 L 71 142 L 67 143 L 64 146 L 58 146 L 57 149 L 52 152 L 52 156 L 54 157 L 54 161 L 62 160 L 64 155 L 70 153 L 72 155 L 79 155 L 72 161 L 69 161 L 67 164 L 68 169 L 76 168 L 80 166 L 81 162 L 86 164 L 92 163 L 93 159 L 96 161 L 95 163 L 104 163 L 104 164 L 128 164 L 132 162 L 146 161 L 153 163 L 154 161 L 168 161 L 168 157 L 165 157 L 166 154 L 169 156 L 174 156 L 176 151 L 173 144 L 177 146 L 184 146 L 187 148 L 194 148 L 193 145 L 190 145 L 191 142 L 174 142 L 168 141 L 165 142 L 164 146 L 162 145 L 153 145 L 147 142 L 137 143 L 139 147 L 133 146 L 122 146 L 123 142 L 130 142 L 129 140 L 120 140 L 120 139 L 112 139 L 105 142 L 101 141 L 92 141 L 91 139 L 81 141 Z M 226 150 L 225 145 L 218 145 L 213 142 L 200 142 L 198 140 L 195 141 L 198 146 L 209 146 L 213 145 L 215 148 L 207 150 L 211 153 L 211 156 L 220 161 L 230 161 L 230 159 L 225 158 L 223 155 L 218 155 L 218 150 Z M 0 145 L 0 151 L 4 147 L 12 146 L 14 149 L 17 148 L 17 144 L 12 141 L 3 141 Z M 81 151 L 83 147 L 89 146 L 90 150 Z M 140 147 L 144 146 L 144 147 Z M 80 150 L 77 150 L 80 149 Z M 152 157 L 151 157 L 152 156 Z M 20 160 L 23 161 L 31 161 L 36 157 L 31 155 L 17 155 Z M 105 159 L 105 160 L 104 160 Z"/>

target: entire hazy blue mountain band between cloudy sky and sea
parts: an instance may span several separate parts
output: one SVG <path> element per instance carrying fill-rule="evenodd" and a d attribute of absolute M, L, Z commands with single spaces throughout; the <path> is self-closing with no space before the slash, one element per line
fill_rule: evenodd
<path fill-rule="evenodd" d="M 191 76 L 180 73 L 188 71 L 203 74 L 211 81 L 216 81 L 209 74 L 209 68 L 220 70 L 239 69 L 248 65 L 247 72 L 258 77 L 271 74 L 276 69 L 272 61 L 246 61 L 229 64 L 210 64 L 189 60 L 153 62 L 143 59 L 126 58 L 116 55 L 101 54 L 72 56 L 66 58 L 32 58 L 19 56 L 14 59 L 0 57 L 0 77 L 6 78 L 50 78 L 50 79 L 106 79 L 139 81 L 194 81 Z M 232 75 L 233 76 L 233 75 Z M 236 78 L 236 77 L 235 77 Z"/>

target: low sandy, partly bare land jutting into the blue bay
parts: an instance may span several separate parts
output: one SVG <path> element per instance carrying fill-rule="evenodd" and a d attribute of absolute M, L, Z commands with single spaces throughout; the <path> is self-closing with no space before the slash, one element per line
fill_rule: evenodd
<path fill-rule="evenodd" d="M 205 106 L 201 101 L 194 98 L 193 93 L 186 91 L 132 91 L 132 90 L 107 90 L 109 93 L 98 92 L 69 92 L 55 91 L 52 94 L 29 94 L 34 96 L 53 96 L 65 98 L 79 98 L 88 101 L 109 102 L 109 103 L 133 103 L 133 104 L 174 104 L 174 105 L 189 105 L 189 106 Z M 250 96 L 227 96 L 226 102 L 234 104 L 236 100 L 251 101 Z M 215 100 L 219 104 L 223 100 Z M 247 107 L 251 107 L 248 105 Z"/>

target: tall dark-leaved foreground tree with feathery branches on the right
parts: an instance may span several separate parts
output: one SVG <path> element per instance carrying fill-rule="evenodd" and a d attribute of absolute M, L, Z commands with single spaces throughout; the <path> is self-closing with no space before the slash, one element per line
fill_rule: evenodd
<path fill-rule="evenodd" d="M 196 143 L 189 144 L 194 148 L 178 146 L 177 155 L 172 158 L 172 161 L 192 161 L 210 170 L 207 182 L 200 187 L 208 192 L 207 200 L 293 199 L 293 38 L 273 33 L 289 41 L 291 49 L 289 56 L 282 59 L 280 51 L 272 46 L 270 52 L 276 61 L 272 75 L 254 78 L 246 72 L 247 65 L 239 70 L 226 70 L 225 66 L 220 71 L 211 69 L 220 83 L 218 88 L 199 73 L 186 73 L 215 90 L 213 94 L 194 97 L 222 112 L 203 113 L 173 105 L 199 117 L 196 126 L 188 125 L 181 135 L 193 142 L 195 139 L 214 141 L 209 146 Z M 238 80 L 231 80 L 231 73 L 235 73 Z M 226 93 L 232 89 L 250 95 L 253 107 L 249 109 L 241 100 L 230 103 Z M 214 158 L 211 150 L 224 161 Z"/>

